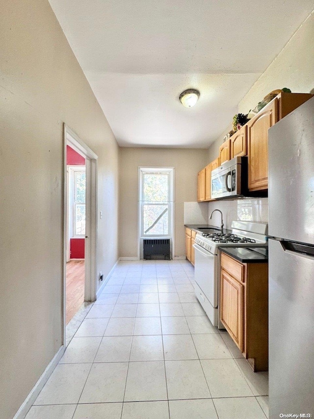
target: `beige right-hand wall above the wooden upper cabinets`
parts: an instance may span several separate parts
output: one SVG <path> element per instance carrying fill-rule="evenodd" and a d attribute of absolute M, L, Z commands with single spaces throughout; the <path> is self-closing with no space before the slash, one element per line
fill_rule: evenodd
<path fill-rule="evenodd" d="M 314 93 L 314 12 L 240 101 L 238 112 L 254 109 L 267 93 L 288 87 L 295 93 Z M 230 121 L 232 122 L 232 121 Z M 226 132 L 229 131 L 226 129 Z M 217 157 L 224 132 L 209 147 L 209 161 Z"/>

